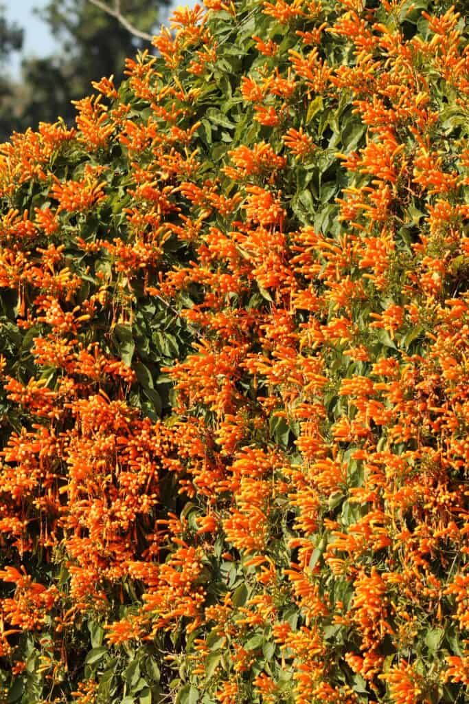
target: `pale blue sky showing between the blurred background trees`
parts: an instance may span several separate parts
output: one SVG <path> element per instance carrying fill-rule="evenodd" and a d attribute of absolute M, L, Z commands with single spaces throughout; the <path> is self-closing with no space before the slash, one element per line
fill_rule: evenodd
<path fill-rule="evenodd" d="M 53 51 L 54 42 L 46 23 L 33 13 L 33 8 L 44 6 L 45 0 L 3 0 L 6 6 L 6 17 L 16 21 L 25 30 L 23 51 L 28 56 L 47 56 Z M 174 2 L 178 5 L 193 4 L 190 0 Z M 10 70 L 15 77 L 20 73 L 21 56 L 15 54 L 10 64 Z"/>

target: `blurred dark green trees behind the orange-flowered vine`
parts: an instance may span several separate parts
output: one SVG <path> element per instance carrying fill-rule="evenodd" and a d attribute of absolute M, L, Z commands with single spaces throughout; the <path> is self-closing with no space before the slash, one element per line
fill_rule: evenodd
<path fill-rule="evenodd" d="M 155 30 L 160 8 L 166 4 L 167 0 L 120 0 L 116 4 L 49 0 L 38 12 L 58 49 L 51 56 L 25 58 L 20 84 L 8 82 L 14 99 L 0 113 L 0 139 L 8 139 L 13 130 L 35 128 L 41 121 L 55 122 L 58 115 L 72 123 L 75 107 L 71 101 L 89 93 L 91 81 L 122 75 L 124 58 L 150 46 L 145 37 Z M 20 48 L 22 37 L 22 30 L 8 30 L 0 19 L 0 60 L 5 52 Z"/>

